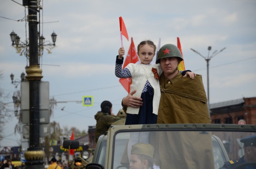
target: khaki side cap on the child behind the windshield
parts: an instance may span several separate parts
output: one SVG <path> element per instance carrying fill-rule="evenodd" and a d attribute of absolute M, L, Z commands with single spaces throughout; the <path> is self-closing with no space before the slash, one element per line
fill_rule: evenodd
<path fill-rule="evenodd" d="M 135 143 L 132 145 L 131 154 L 146 155 L 153 158 L 154 147 L 151 144 Z"/>

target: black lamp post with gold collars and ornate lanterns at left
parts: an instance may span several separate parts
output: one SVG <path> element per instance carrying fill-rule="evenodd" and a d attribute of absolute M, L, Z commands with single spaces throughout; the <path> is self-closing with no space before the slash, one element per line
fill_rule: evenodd
<path fill-rule="evenodd" d="M 52 33 L 52 42 L 44 42 L 45 38 L 39 36 L 38 33 L 38 22 L 37 22 L 37 9 L 38 1 L 26 0 L 23 1 L 23 6 L 28 6 L 28 35 L 29 38 L 25 42 L 20 41 L 20 37 L 12 31 L 10 34 L 12 46 L 16 49 L 17 53 L 20 55 L 24 54 L 27 59 L 29 59 L 29 66 L 26 69 L 27 76 L 25 74 L 21 75 L 29 82 L 29 148 L 24 153 L 27 160 L 25 162 L 26 169 L 44 169 L 44 151 L 40 148 L 40 135 L 39 135 L 39 84 L 41 81 L 42 70 L 40 69 L 39 57 L 43 55 L 44 48 L 51 53 L 51 49 L 55 48 L 56 33 Z M 40 8 L 39 8 L 40 10 Z M 16 46 L 14 46 L 16 45 Z M 14 75 L 11 74 L 12 84 L 16 83 L 13 81 Z M 22 80 L 21 80 L 22 81 Z"/>

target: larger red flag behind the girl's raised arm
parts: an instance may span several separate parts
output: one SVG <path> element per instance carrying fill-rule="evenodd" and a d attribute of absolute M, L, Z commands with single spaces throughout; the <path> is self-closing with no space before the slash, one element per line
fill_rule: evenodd
<path fill-rule="evenodd" d="M 134 46 L 133 40 L 131 42 L 130 48 L 128 50 L 127 56 L 124 61 L 123 69 L 129 64 L 129 63 L 136 63 L 139 61 L 136 48 Z M 130 85 L 132 84 L 131 78 L 120 78 L 119 82 L 124 87 L 124 89 L 130 93 Z"/>

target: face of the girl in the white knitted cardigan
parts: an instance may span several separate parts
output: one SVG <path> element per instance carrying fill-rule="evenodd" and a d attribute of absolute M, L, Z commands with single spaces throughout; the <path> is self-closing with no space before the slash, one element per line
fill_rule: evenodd
<path fill-rule="evenodd" d="M 154 48 L 148 44 L 140 47 L 140 50 L 138 51 L 138 56 L 140 58 L 141 64 L 149 64 L 150 62 L 152 62 L 154 55 Z"/>

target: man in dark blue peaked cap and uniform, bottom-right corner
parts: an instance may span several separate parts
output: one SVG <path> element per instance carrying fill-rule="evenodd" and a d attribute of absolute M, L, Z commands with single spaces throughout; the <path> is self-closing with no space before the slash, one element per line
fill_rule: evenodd
<path fill-rule="evenodd" d="M 244 143 L 244 156 L 238 160 L 230 160 L 224 163 L 220 169 L 233 169 L 236 166 L 246 163 L 255 162 L 256 163 L 256 135 L 248 136 L 240 140 Z M 246 165 L 246 169 L 256 169 L 256 164 Z"/>

